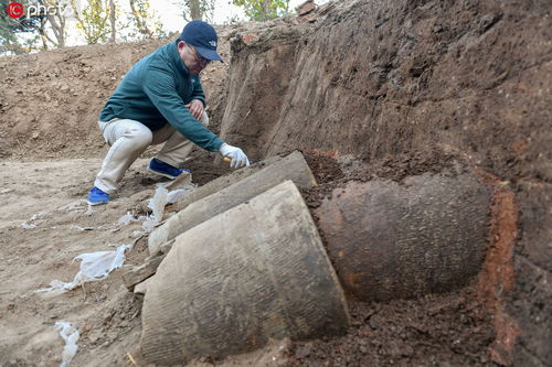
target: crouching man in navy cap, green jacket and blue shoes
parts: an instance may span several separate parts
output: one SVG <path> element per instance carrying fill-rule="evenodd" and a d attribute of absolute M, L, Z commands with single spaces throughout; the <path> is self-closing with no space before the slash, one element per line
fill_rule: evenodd
<path fill-rule="evenodd" d="M 136 63 L 99 114 L 99 129 L 110 145 L 94 187 L 92 205 L 107 203 L 130 164 L 150 145 L 164 142 L 148 170 L 169 179 L 181 174 L 195 143 L 232 159 L 232 168 L 250 165 L 245 153 L 222 141 L 206 126 L 205 95 L 199 74 L 216 53 L 215 30 L 188 23 L 180 37 Z"/>

